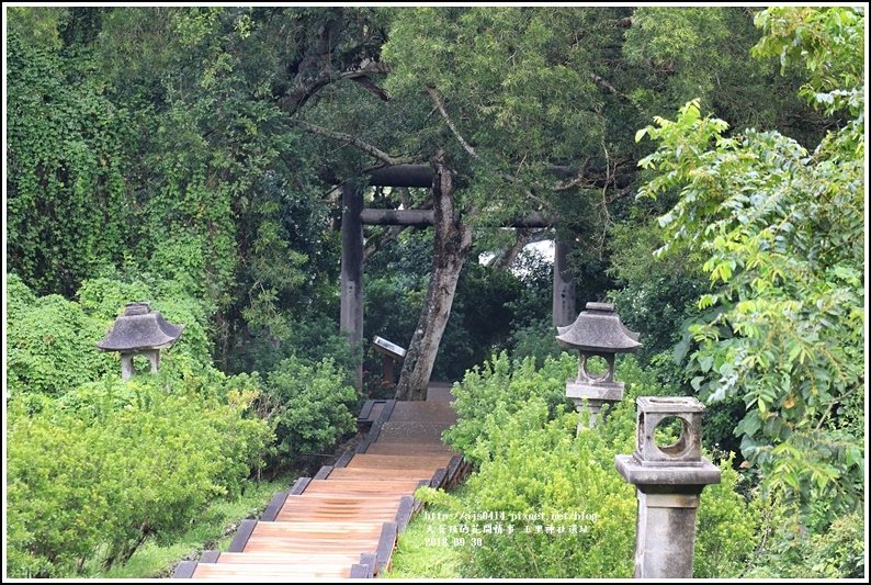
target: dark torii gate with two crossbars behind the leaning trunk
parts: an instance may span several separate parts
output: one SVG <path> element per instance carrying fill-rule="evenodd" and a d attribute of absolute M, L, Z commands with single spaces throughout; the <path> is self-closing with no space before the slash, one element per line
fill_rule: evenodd
<path fill-rule="evenodd" d="M 432 187 L 432 168 L 428 165 L 396 165 L 370 173 L 372 187 Z M 428 226 L 432 210 L 363 209 L 363 190 L 352 181 L 342 183 L 341 310 L 339 330 L 351 345 L 363 341 L 363 225 Z M 505 227 L 552 227 L 552 222 L 533 213 Z M 553 324 L 563 327 L 577 317 L 575 278 L 568 270 L 569 246 L 554 241 Z M 363 387 L 363 364 L 357 367 L 355 385 Z"/>

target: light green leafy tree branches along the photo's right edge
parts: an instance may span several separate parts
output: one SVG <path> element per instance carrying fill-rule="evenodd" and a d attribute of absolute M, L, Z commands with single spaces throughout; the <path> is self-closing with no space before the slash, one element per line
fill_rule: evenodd
<path fill-rule="evenodd" d="M 640 162 L 657 171 L 640 191 L 679 190 L 660 218 L 675 243 L 703 255 L 714 294 L 691 326 L 692 385 L 703 400 L 740 396 L 742 450 L 766 485 L 807 505 L 830 503 L 828 518 L 863 493 L 864 143 L 861 13 L 778 9 L 760 15 L 769 36 L 758 52 L 801 56 L 812 71 L 804 92 L 826 113 L 850 115 L 813 153 L 777 132 L 725 137 L 727 124 L 702 117 L 698 102 L 675 122 L 638 132 L 659 142 Z M 789 25 L 788 25 L 789 24 Z M 821 42 L 825 38 L 826 42 Z M 796 45 L 793 49 L 787 45 Z M 821 72 L 823 71 L 823 72 Z M 810 92 L 813 89 L 813 92 Z"/>

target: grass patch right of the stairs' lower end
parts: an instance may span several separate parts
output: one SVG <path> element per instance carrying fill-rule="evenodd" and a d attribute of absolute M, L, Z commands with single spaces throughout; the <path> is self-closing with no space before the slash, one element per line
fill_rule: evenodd
<path fill-rule="evenodd" d="M 460 487 L 456 493 L 462 490 Z M 391 570 L 384 575 L 386 578 L 463 577 L 463 549 L 434 542 L 438 537 L 445 536 L 440 533 L 440 527 L 452 524 L 439 519 L 439 514 L 450 517 L 451 513 L 442 506 L 427 506 L 399 535 Z M 446 536 L 450 540 L 450 535 Z"/>

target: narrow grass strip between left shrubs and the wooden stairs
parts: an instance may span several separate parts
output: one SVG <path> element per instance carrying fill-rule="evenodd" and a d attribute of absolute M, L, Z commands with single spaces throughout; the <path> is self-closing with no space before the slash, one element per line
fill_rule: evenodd
<path fill-rule="evenodd" d="M 196 559 L 206 549 L 227 550 L 241 520 L 259 517 L 272 496 L 286 490 L 293 479 L 282 475 L 270 482 L 251 481 L 239 498 L 213 502 L 197 521 L 172 542 L 149 539 L 123 565 L 109 571 L 92 565 L 88 573 L 99 578 L 170 577 L 179 561 Z"/>

